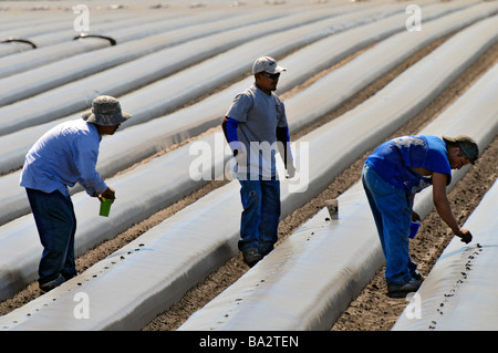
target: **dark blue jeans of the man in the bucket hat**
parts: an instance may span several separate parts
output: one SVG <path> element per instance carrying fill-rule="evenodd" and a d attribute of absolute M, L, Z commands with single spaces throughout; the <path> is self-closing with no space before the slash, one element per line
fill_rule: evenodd
<path fill-rule="evenodd" d="M 46 283 L 62 274 L 76 276 L 74 233 L 76 216 L 71 198 L 60 191 L 46 194 L 27 188 L 28 199 L 37 224 L 43 252 L 38 269 L 39 283 Z"/>

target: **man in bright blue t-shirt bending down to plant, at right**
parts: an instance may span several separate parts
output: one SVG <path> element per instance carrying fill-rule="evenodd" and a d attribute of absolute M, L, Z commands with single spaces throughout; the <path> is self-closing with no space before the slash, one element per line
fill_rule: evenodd
<path fill-rule="evenodd" d="M 374 216 L 386 260 L 385 279 L 390 297 L 404 297 L 422 284 L 416 263 L 409 258 L 408 236 L 415 194 L 433 186 L 433 199 L 440 218 L 464 242 L 469 230 L 458 226 L 446 195 L 452 169 L 474 164 L 479 149 L 468 136 L 403 136 L 385 142 L 365 160 L 362 183 Z"/>

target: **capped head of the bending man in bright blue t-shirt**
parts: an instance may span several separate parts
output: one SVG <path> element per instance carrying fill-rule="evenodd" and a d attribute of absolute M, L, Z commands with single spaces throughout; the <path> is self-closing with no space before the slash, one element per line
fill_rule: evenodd
<path fill-rule="evenodd" d="M 446 142 L 449 165 L 453 169 L 459 169 L 469 163 L 474 164 L 479 157 L 479 147 L 476 142 L 468 136 L 443 136 L 443 139 Z"/>

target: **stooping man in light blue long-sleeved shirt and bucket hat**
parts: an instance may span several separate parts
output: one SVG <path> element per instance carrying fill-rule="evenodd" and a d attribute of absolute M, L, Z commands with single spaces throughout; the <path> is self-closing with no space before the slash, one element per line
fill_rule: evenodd
<path fill-rule="evenodd" d="M 20 185 L 25 188 L 43 253 L 39 285 L 49 291 L 76 274 L 76 218 L 69 187 L 80 184 L 92 197 L 115 199 L 95 170 L 104 135 L 113 135 L 131 117 L 120 102 L 98 96 L 81 120 L 61 123 L 46 132 L 25 156 Z"/>

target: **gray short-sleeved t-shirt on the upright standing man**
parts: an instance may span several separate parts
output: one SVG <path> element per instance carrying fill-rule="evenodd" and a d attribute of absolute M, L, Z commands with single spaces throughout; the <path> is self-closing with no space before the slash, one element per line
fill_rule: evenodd
<path fill-rule="evenodd" d="M 237 135 L 248 155 L 247 172 L 251 176 L 274 177 L 277 127 L 288 125 L 283 102 L 252 84 L 234 98 L 226 116 L 239 122 Z M 245 168 L 237 173 L 246 176 Z"/>

